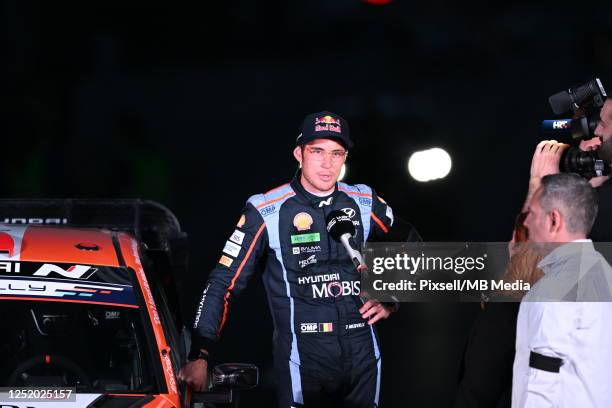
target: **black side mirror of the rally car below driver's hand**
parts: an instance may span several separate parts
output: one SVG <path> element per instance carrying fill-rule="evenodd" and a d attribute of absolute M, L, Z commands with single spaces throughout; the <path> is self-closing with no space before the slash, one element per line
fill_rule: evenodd
<path fill-rule="evenodd" d="M 219 364 L 212 370 L 212 389 L 191 394 L 191 407 L 223 404 L 237 407 L 239 391 L 250 390 L 259 383 L 259 369 L 253 364 Z"/>

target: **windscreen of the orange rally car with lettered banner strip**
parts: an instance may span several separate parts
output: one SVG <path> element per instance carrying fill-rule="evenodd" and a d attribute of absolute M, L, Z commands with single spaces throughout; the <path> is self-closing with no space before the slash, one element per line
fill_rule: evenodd
<path fill-rule="evenodd" d="M 86 279 L 72 279 L 61 275 L 66 265 L 36 275 L 40 268 L 22 262 L 17 274 L 0 271 L 0 386 L 159 392 L 158 353 L 133 272 L 90 267 Z"/>

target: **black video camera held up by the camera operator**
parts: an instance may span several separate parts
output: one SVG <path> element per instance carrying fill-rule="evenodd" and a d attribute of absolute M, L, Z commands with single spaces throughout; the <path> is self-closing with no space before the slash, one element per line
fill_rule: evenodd
<path fill-rule="evenodd" d="M 578 142 L 595 137 L 599 111 L 606 97 L 606 90 L 599 78 L 552 95 L 548 102 L 556 115 L 570 112 L 573 115 L 571 118 L 542 121 L 542 133 L 555 139 L 570 137 Z M 582 151 L 575 146 L 563 153 L 560 167 L 563 172 L 578 173 L 587 179 L 610 174 L 610 165 L 599 157 L 596 150 Z"/>

